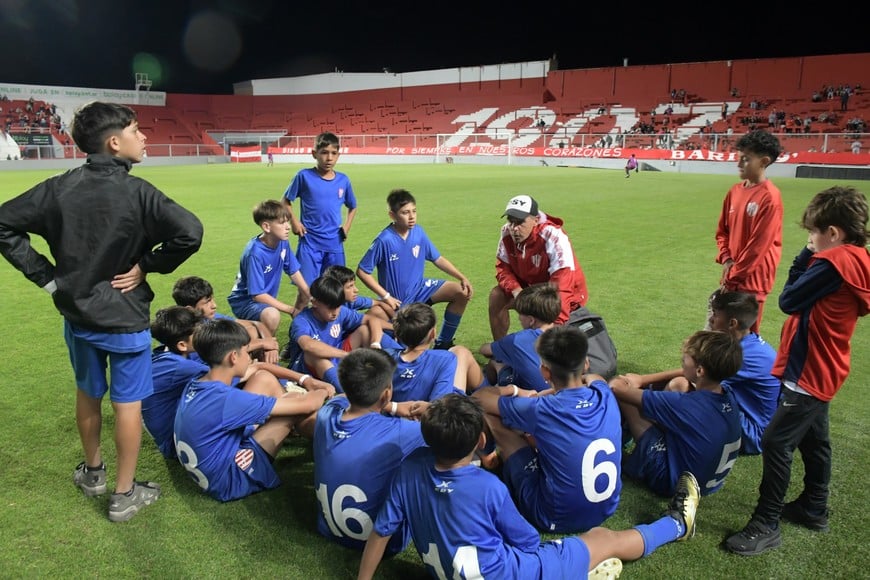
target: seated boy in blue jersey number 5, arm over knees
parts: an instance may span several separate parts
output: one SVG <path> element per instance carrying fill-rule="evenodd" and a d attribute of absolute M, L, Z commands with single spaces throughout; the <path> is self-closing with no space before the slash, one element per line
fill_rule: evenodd
<path fill-rule="evenodd" d="M 636 375 L 611 379 L 622 420 L 636 442 L 623 473 L 665 496 L 673 493 L 682 471 L 695 474 L 703 495 L 720 489 L 740 450 L 740 409 L 721 383 L 742 362 L 739 339 L 701 330 L 683 344 L 683 376 L 695 390 L 644 389 Z"/>

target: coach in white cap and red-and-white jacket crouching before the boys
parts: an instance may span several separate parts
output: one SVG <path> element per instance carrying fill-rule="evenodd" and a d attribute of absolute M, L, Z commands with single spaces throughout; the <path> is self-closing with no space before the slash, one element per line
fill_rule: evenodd
<path fill-rule="evenodd" d="M 495 263 L 498 285 L 489 293 L 489 326 L 492 339 L 507 335 L 509 310 L 520 290 L 549 282 L 559 289 L 562 312 L 557 324 L 568 320 L 575 308 L 586 304 L 586 276 L 574 255 L 571 240 L 562 231 L 562 220 L 538 210 L 528 195 L 511 198 L 505 209 Z"/>

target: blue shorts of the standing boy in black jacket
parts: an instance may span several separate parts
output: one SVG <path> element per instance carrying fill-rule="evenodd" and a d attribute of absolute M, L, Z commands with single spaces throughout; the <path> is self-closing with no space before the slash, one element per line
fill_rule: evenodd
<path fill-rule="evenodd" d="M 76 386 L 89 397 L 102 399 L 109 392 L 114 403 L 132 403 L 154 393 L 149 331 L 91 332 L 64 321 L 63 335 Z M 106 381 L 107 368 L 111 383 Z"/>

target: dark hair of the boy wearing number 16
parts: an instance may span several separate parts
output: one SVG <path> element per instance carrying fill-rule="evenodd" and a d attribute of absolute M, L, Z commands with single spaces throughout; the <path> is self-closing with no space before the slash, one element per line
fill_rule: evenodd
<path fill-rule="evenodd" d="M 357 348 L 338 363 L 338 382 L 347 400 L 371 407 L 393 382 L 396 361 L 383 350 Z"/>

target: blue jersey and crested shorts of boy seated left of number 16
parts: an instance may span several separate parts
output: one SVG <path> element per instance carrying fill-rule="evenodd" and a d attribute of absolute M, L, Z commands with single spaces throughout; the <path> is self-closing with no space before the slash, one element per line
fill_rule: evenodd
<path fill-rule="evenodd" d="M 259 445 L 250 437 L 276 401 L 219 381 L 194 380 L 184 389 L 175 414 L 175 449 L 205 493 L 230 501 L 278 487 L 268 455 L 252 450 Z"/>

